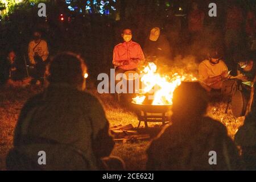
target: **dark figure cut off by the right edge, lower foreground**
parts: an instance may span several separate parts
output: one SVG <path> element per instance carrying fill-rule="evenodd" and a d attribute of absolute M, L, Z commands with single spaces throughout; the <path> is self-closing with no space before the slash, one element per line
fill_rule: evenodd
<path fill-rule="evenodd" d="M 254 85 L 256 83 L 256 77 Z M 249 113 L 245 117 L 243 126 L 237 131 L 235 142 L 241 146 L 242 157 L 247 170 L 256 170 L 256 96 L 255 86 L 251 89 Z"/>

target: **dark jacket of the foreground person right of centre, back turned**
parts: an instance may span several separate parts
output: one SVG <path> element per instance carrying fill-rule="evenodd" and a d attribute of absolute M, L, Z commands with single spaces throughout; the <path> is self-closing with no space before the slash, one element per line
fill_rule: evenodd
<path fill-rule="evenodd" d="M 224 125 L 205 117 L 194 127 L 173 124 L 164 129 L 147 150 L 147 169 L 241 169 L 238 150 Z M 217 165 L 209 164 L 210 151 L 216 151 Z"/>

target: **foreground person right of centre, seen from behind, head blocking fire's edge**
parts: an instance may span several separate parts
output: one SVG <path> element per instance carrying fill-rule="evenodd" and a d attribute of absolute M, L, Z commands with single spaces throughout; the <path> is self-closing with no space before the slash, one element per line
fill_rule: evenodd
<path fill-rule="evenodd" d="M 172 125 L 166 126 L 147 150 L 148 170 L 237 170 L 241 159 L 226 127 L 205 117 L 207 92 L 198 82 L 175 89 Z M 209 152 L 217 153 L 210 165 Z"/>

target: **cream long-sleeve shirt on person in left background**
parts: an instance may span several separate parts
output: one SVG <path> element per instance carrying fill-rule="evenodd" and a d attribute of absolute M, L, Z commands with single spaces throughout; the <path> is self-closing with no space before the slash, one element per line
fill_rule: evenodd
<path fill-rule="evenodd" d="M 35 64 L 35 60 L 34 60 L 35 53 L 38 53 L 38 55 L 42 57 L 43 61 L 47 60 L 47 57 L 49 55 L 48 46 L 45 40 L 41 40 L 38 46 L 36 45 L 37 43 L 35 43 L 34 40 L 32 40 L 28 44 L 28 59 L 32 64 Z"/>

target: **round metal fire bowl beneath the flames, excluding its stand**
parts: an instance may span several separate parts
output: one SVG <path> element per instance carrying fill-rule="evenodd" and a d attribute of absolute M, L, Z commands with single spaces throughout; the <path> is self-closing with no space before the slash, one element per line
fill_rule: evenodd
<path fill-rule="evenodd" d="M 146 113 L 167 113 L 172 109 L 172 105 L 149 105 L 149 104 L 136 104 L 131 102 L 135 109 L 142 110 Z"/>

